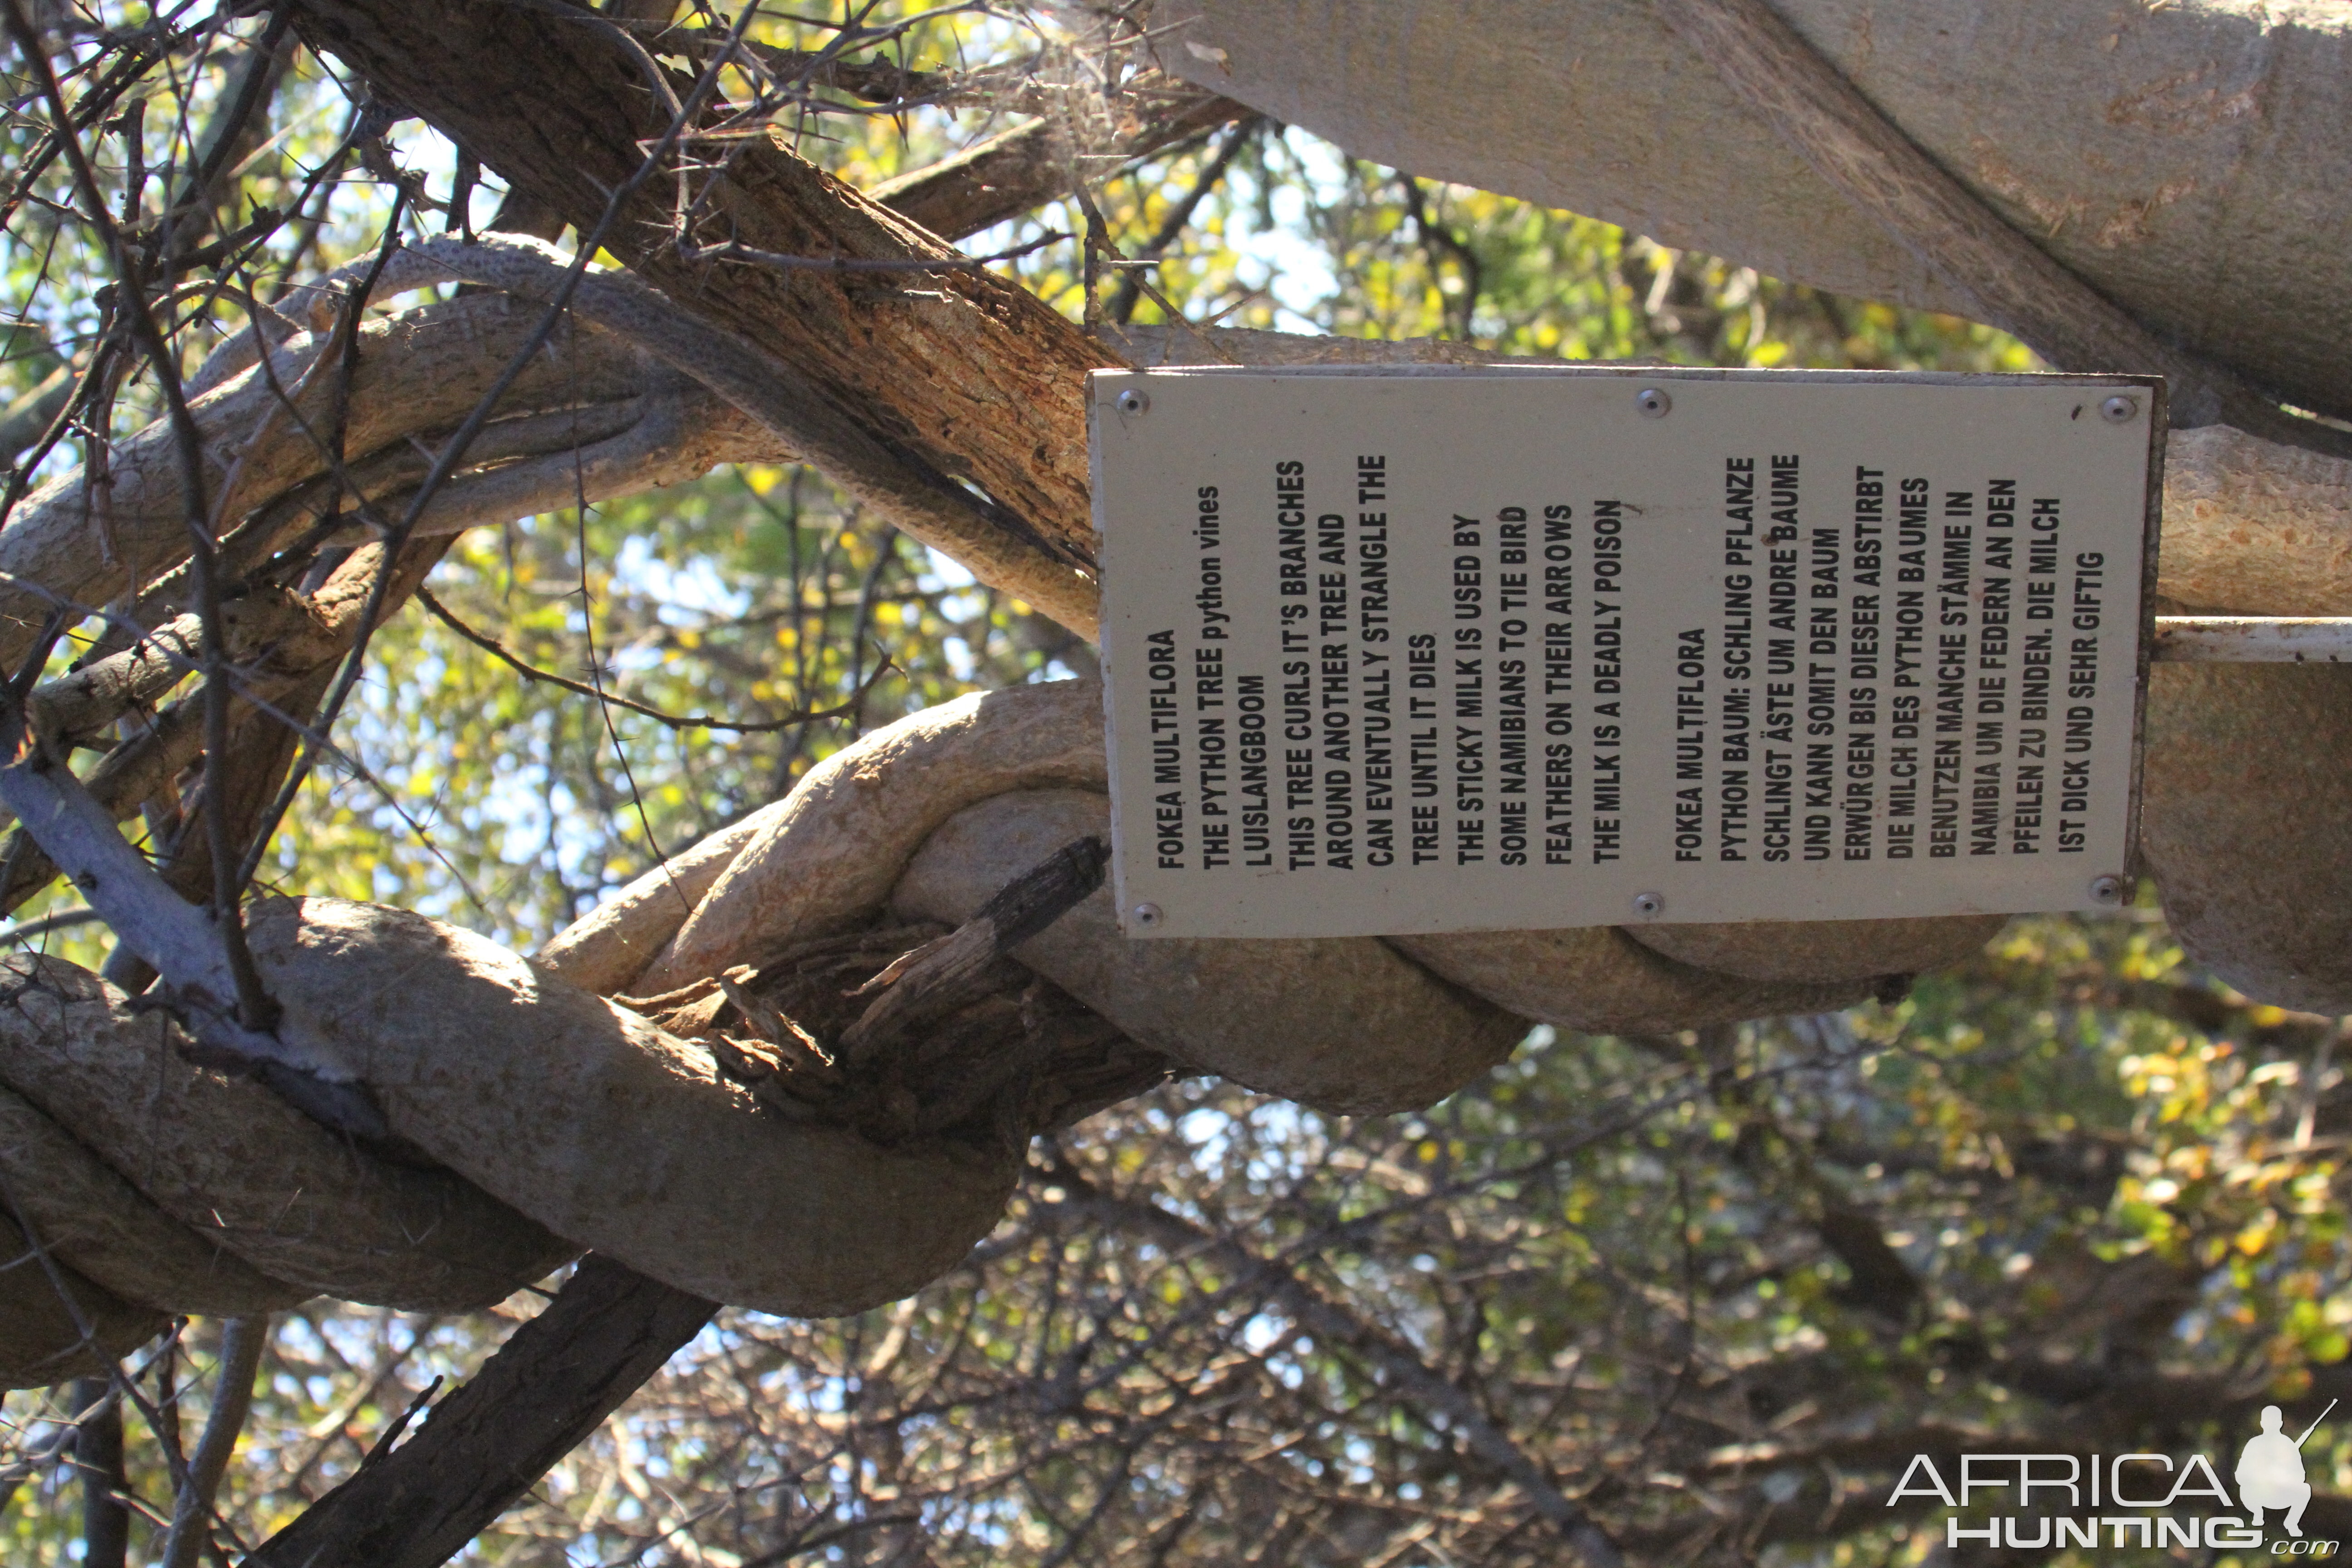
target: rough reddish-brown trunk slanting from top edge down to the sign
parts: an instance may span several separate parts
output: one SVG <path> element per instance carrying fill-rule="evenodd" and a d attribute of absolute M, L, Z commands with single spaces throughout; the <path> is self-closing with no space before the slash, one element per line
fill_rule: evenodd
<path fill-rule="evenodd" d="M 583 19 L 586 21 L 586 19 Z M 388 99 L 588 226 L 661 132 L 644 75 L 602 28 L 494 0 L 303 0 L 303 38 Z M 797 367 L 917 468 L 967 480 L 1084 571 L 1084 371 L 1112 364 L 1040 299 L 976 268 L 769 270 L 687 261 L 675 240 L 849 261 L 960 259 L 936 235 L 769 141 L 729 141 L 677 235 L 675 186 L 644 181 L 607 247 L 677 306 Z"/>

